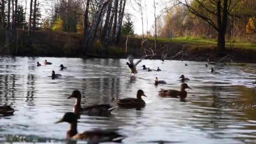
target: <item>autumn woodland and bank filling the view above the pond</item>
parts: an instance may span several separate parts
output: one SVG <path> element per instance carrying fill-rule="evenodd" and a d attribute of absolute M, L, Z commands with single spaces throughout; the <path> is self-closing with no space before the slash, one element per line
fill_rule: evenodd
<path fill-rule="evenodd" d="M 198 45 L 206 43 L 208 46 L 203 47 L 221 53 L 235 47 L 240 51 L 246 49 L 245 53 L 256 53 L 255 0 L 150 0 L 150 3 L 148 0 L 1 0 L 0 53 L 64 53 L 64 56 L 139 53 L 166 57 L 181 52 L 170 53 L 173 47 L 170 43 L 190 41 Z M 137 21 L 142 25 L 140 32 L 135 32 Z"/>

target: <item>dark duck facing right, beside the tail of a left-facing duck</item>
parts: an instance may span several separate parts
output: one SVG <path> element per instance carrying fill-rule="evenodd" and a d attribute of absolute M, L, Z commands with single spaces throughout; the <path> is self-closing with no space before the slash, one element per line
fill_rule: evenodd
<path fill-rule="evenodd" d="M 144 91 L 138 90 L 137 91 L 137 98 L 119 99 L 116 103 L 120 107 L 128 107 L 128 108 L 141 108 L 141 107 L 145 107 L 146 103 L 145 103 L 145 101 L 143 99 L 141 99 L 141 96 L 146 96 L 146 95 L 144 94 Z"/>

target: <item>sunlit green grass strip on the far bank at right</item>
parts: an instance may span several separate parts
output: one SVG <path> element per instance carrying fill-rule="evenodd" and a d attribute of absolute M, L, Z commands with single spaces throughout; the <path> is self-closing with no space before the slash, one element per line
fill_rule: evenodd
<path fill-rule="evenodd" d="M 155 40 L 154 37 L 150 37 L 149 40 Z M 175 38 L 157 38 L 157 41 L 164 42 L 164 43 L 191 43 L 191 44 L 198 44 L 198 45 L 217 45 L 217 40 L 215 39 L 205 39 L 201 37 L 175 37 Z M 233 45 L 234 43 L 234 45 Z M 226 48 L 229 47 L 236 47 L 236 48 L 256 48 L 256 44 L 241 42 L 241 41 L 232 41 L 226 40 Z"/>

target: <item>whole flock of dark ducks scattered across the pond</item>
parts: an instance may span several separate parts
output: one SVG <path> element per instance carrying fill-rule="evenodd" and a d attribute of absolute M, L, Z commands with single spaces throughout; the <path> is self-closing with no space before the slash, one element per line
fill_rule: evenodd
<path fill-rule="evenodd" d="M 141 59 L 139 61 L 136 61 L 136 63 L 133 63 L 133 59 L 130 57 L 129 62 L 126 63 L 128 67 L 130 68 L 131 74 L 135 75 L 138 73 L 136 70 L 136 66 L 141 62 Z M 45 60 L 43 64 L 48 65 L 52 64 L 51 62 L 48 62 Z M 37 61 L 37 67 L 40 67 L 41 64 Z M 185 66 L 188 66 L 185 64 Z M 63 64 L 61 64 L 59 67 L 61 69 L 67 69 L 67 67 L 64 67 Z M 146 67 L 145 65 L 142 66 L 143 70 L 152 71 L 152 69 L 149 69 L 149 67 Z M 205 64 L 205 67 L 208 67 L 207 64 Z M 159 67 L 155 71 L 161 71 Z M 215 72 L 213 68 L 211 68 L 211 72 Z M 52 71 L 51 78 L 55 79 L 61 77 L 60 74 L 56 74 L 54 70 Z M 186 78 L 184 75 L 181 75 L 179 78 L 181 78 L 181 86 L 180 91 L 172 90 L 172 89 L 161 89 L 159 91 L 159 95 L 162 97 L 178 97 L 182 100 L 184 100 L 187 97 L 187 91 L 185 89 L 189 88 L 187 83 L 184 83 L 185 81 L 188 81 L 189 79 Z M 164 80 L 158 80 L 157 77 L 155 77 L 154 84 L 166 84 Z M 256 81 L 255 83 L 256 84 Z M 191 89 L 191 88 L 189 88 Z M 113 109 L 118 107 L 124 107 L 124 108 L 136 108 L 140 109 L 142 107 L 146 106 L 146 102 L 141 98 L 142 96 L 147 97 L 144 94 L 144 91 L 138 90 L 136 98 L 124 98 L 124 99 L 118 99 L 115 103 L 116 105 L 111 104 L 95 104 L 90 105 L 86 107 L 81 106 L 81 93 L 78 90 L 75 90 L 72 92 L 70 96 L 67 97 L 67 99 L 75 99 L 75 105 L 73 107 L 73 112 L 66 112 L 64 116 L 58 120 L 56 123 L 62 123 L 67 122 L 70 124 L 70 128 L 67 131 L 66 138 L 67 139 L 75 139 L 75 140 L 86 140 L 88 142 L 93 143 L 99 143 L 99 142 L 107 142 L 107 141 L 113 141 L 113 142 L 121 142 L 125 136 L 117 133 L 118 129 L 94 129 L 91 131 L 85 131 L 83 133 L 77 132 L 77 120 L 80 119 L 80 115 L 89 115 L 89 116 L 109 116 L 111 115 L 111 112 Z M 14 109 L 10 106 L 0 106 L 0 115 L 13 115 Z"/>

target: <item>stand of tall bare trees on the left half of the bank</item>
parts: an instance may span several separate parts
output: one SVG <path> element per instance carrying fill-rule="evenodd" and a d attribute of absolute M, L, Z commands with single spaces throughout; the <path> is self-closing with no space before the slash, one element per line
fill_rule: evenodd
<path fill-rule="evenodd" d="M 35 30 L 67 32 L 67 42 L 71 33 L 83 34 L 80 52 L 84 54 L 91 51 L 96 40 L 105 47 L 120 42 L 126 0 L 46 0 L 51 12 L 44 18 L 40 1 L 26 0 L 28 11 L 22 1 L 23 5 L 20 5 L 21 0 L 0 2 L 0 53 L 15 53 L 19 41 L 17 29 L 27 31 L 27 41 L 22 44 L 31 52 Z M 128 27 L 133 29 L 129 24 Z"/>

